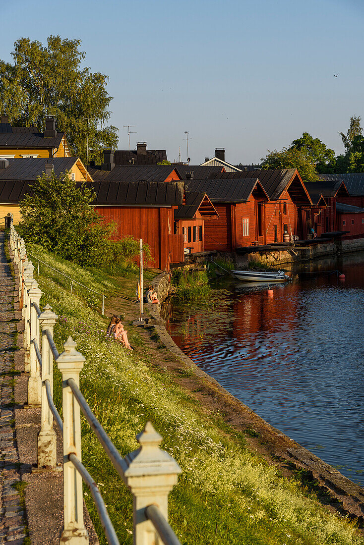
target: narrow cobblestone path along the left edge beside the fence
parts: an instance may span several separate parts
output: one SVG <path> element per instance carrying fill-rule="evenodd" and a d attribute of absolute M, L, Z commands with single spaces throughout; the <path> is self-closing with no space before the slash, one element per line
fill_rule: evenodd
<path fill-rule="evenodd" d="M 14 286 L 4 252 L 4 232 L 0 232 L 0 543 L 20 545 L 25 540 L 25 515 L 20 505 L 19 456 L 14 433 Z"/>

